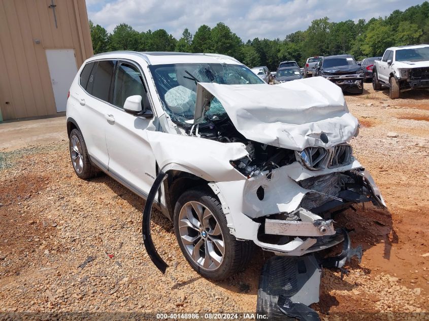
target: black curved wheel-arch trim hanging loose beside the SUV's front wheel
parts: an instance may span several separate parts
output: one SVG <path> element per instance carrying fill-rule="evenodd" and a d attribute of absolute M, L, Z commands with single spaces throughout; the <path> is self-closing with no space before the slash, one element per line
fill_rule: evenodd
<path fill-rule="evenodd" d="M 152 235 L 150 234 L 150 220 L 152 218 L 152 204 L 155 199 L 156 192 L 162 184 L 162 181 L 166 179 L 168 174 L 164 173 L 162 170 L 159 171 L 158 176 L 156 176 L 155 182 L 149 191 L 149 195 L 146 200 L 145 208 L 143 210 L 143 220 L 142 220 L 142 235 L 143 243 L 145 244 L 146 252 L 152 260 L 153 264 L 162 272 L 166 273 L 168 265 L 162 258 L 159 256 L 156 251 L 155 245 L 153 244 Z"/>

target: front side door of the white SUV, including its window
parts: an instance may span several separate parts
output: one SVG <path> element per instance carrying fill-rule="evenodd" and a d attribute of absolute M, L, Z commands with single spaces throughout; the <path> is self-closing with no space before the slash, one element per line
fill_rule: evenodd
<path fill-rule="evenodd" d="M 137 64 L 120 61 L 116 67 L 113 104 L 106 128 L 109 171 L 124 180 L 138 194 L 147 196 L 155 180 L 155 156 L 145 132 L 156 130 L 155 118 L 145 119 L 123 110 L 125 99 L 142 96 L 142 105 L 150 108 L 143 73 Z"/>

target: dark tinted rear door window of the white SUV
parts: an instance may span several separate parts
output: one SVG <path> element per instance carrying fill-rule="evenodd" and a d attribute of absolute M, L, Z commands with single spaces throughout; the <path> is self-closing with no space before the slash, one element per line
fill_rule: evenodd
<path fill-rule="evenodd" d="M 93 85 L 91 92 L 88 92 L 107 102 L 111 102 L 111 85 L 113 78 L 113 70 L 115 67 L 115 60 L 101 60 L 98 61 L 98 65 L 95 71 L 95 75 L 92 72 Z M 91 76 L 89 76 L 88 89 L 90 89 Z"/>

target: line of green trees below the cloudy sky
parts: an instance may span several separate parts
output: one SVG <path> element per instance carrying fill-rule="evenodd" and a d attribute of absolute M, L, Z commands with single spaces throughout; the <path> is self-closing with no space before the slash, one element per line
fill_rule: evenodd
<path fill-rule="evenodd" d="M 303 66 L 308 57 L 346 53 L 360 60 L 380 56 L 390 46 L 429 43 L 429 3 L 369 21 L 315 19 L 307 30 L 287 34 L 283 40 L 255 38 L 243 42 L 222 22 L 213 28 L 203 24 L 194 34 L 185 28 L 179 40 L 164 29 L 139 32 L 126 23 L 118 24 L 112 33 L 91 21 L 89 26 L 94 54 L 113 50 L 220 53 L 249 67 L 266 65 L 276 70 L 284 60 Z"/>

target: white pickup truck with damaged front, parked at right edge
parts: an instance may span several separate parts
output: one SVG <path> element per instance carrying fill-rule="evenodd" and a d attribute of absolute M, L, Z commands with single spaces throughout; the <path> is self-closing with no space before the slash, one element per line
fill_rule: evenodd
<path fill-rule="evenodd" d="M 383 85 L 389 86 L 390 99 L 404 91 L 429 88 L 429 45 L 387 48 L 373 69 L 374 90 Z"/>

